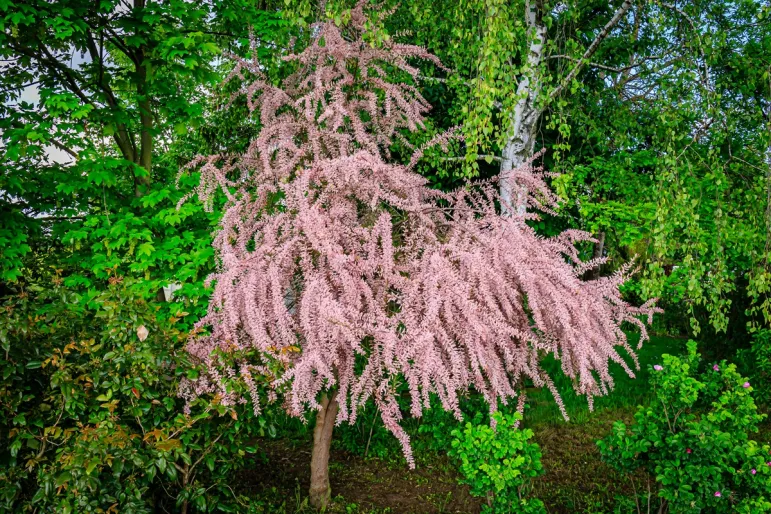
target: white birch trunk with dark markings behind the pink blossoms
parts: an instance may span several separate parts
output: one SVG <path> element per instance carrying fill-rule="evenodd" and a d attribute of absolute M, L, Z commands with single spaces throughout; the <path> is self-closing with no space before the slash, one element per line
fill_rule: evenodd
<path fill-rule="evenodd" d="M 506 171 L 519 168 L 532 156 L 535 148 L 535 131 L 543 109 L 536 105 L 541 92 L 541 82 L 538 76 L 543 47 L 546 42 L 546 25 L 543 23 L 543 2 L 536 1 L 534 6 L 528 3 L 525 13 L 530 27 L 531 41 L 527 54 L 527 66 L 517 86 L 517 103 L 511 116 L 508 139 L 501 152 L 501 168 Z M 504 214 L 524 214 L 526 191 L 512 191 L 511 184 L 501 180 L 501 200 Z"/>

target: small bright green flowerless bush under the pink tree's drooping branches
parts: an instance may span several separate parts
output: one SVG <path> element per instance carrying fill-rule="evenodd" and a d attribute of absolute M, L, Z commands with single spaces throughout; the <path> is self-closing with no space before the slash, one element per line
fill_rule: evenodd
<path fill-rule="evenodd" d="M 529 442 L 533 431 L 517 428 L 518 413 L 493 414 L 496 428 L 480 423 L 481 418 L 452 432 L 450 455 L 460 460 L 462 482 L 472 495 L 487 498 L 484 512 L 546 512 L 541 500 L 527 497 L 532 479 L 543 474 L 541 450 Z"/>

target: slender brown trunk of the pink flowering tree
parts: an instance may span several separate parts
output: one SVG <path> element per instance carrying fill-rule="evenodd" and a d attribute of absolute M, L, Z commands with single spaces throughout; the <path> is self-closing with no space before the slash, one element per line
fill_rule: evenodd
<path fill-rule="evenodd" d="M 330 396 L 325 394 L 321 398 L 321 409 L 316 413 L 309 491 L 311 506 L 315 509 L 326 509 L 332 497 L 332 489 L 329 486 L 329 448 L 332 445 L 337 408 L 337 392 Z"/>

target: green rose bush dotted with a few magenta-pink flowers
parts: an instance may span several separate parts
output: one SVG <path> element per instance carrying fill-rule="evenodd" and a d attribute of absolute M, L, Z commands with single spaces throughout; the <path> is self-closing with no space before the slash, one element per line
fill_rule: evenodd
<path fill-rule="evenodd" d="M 664 355 L 653 367 L 654 401 L 635 423 L 618 421 L 597 444 L 603 460 L 655 477 L 660 512 L 771 512 L 769 446 L 750 439 L 765 415 L 750 383 L 725 361 L 698 372 L 696 343 L 688 355 Z M 642 508 L 635 499 L 638 510 Z"/>

